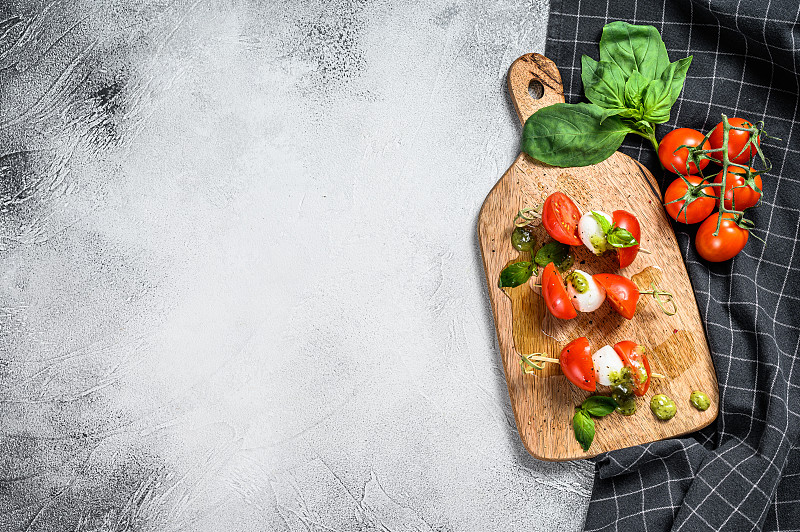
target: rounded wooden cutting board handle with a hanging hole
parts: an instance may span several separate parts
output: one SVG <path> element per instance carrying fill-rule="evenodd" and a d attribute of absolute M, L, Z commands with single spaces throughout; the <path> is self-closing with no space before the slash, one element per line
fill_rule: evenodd
<path fill-rule="evenodd" d="M 511 64 L 508 92 L 523 124 L 542 107 L 564 102 L 561 73 L 556 64 L 542 54 L 525 54 Z M 531 92 L 541 96 L 534 98 Z"/>

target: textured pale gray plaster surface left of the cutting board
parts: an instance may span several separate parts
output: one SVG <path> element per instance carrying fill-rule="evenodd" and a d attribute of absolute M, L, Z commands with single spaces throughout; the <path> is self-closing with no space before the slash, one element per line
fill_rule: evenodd
<path fill-rule="evenodd" d="M 0 14 L 0 529 L 581 527 L 475 234 L 545 2 Z"/>

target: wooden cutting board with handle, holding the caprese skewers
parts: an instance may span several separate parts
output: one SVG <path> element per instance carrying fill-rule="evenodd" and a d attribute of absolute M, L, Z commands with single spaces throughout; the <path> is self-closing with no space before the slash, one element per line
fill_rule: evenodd
<path fill-rule="evenodd" d="M 532 97 L 529 87 L 541 97 Z M 537 109 L 564 101 L 558 69 L 539 54 L 524 55 L 511 65 L 508 89 L 523 124 Z M 634 279 L 641 288 L 655 282 L 675 294 L 677 314 L 667 316 L 650 296 L 643 295 L 631 321 L 614 312 L 607 302 L 595 312 L 558 320 L 547 312 L 538 289 L 529 283 L 498 288 L 504 267 L 530 260 L 529 253 L 519 253 L 511 246 L 514 216 L 521 208 L 540 204 L 559 190 L 570 196 L 581 212 L 624 209 L 635 214 L 642 227 L 641 246 L 651 251 L 640 252 L 633 264 L 617 271 L 615 253 L 595 257 L 583 246 L 573 247 L 576 267 L 590 274 L 619 273 Z M 581 168 L 557 168 L 521 153 L 486 197 L 478 218 L 478 235 L 508 393 L 520 438 L 531 455 L 542 460 L 589 458 L 693 432 L 717 417 L 717 379 L 697 302 L 661 204 L 658 184 L 646 168 L 620 152 Z M 540 244 L 550 240 L 541 226 L 536 236 Z M 593 352 L 621 340 L 643 344 L 649 350 L 652 370 L 667 376 L 651 379 L 647 394 L 637 399 L 633 416 L 614 413 L 595 420 L 597 432 L 588 452 L 575 440 L 571 421 L 575 406 L 590 394 L 571 384 L 557 364 L 524 374 L 518 355 L 541 352 L 558 357 L 564 345 L 580 336 L 588 337 Z M 700 412 L 690 405 L 692 390 L 708 394 L 708 410 Z M 650 398 L 659 393 L 672 397 L 678 405 L 677 415 L 669 421 L 660 421 L 650 412 Z"/>

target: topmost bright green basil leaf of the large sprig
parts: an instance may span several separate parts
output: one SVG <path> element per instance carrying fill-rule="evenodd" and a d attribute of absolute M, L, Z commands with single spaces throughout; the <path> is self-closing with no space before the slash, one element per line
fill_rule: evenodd
<path fill-rule="evenodd" d="M 655 80 L 669 66 L 667 47 L 653 26 L 635 26 L 616 21 L 603 27 L 600 61 L 616 63 L 626 77 L 639 72 Z"/>

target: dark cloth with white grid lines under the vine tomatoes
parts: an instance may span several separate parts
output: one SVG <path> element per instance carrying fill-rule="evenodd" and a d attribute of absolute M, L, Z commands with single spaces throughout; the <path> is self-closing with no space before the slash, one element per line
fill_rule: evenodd
<path fill-rule="evenodd" d="M 567 102 L 583 100 L 581 54 L 595 59 L 613 20 L 652 24 L 670 59 L 694 55 L 671 120 L 708 131 L 720 114 L 763 120 L 782 140 L 762 142 L 773 170 L 744 251 L 704 262 L 696 228 L 676 224 L 720 385 L 716 423 L 690 437 L 598 458 L 586 530 L 800 530 L 800 2 L 775 0 L 554 0 L 547 55 Z M 623 151 L 666 188 L 648 143 Z M 685 398 L 684 398 L 685 399 Z"/>

